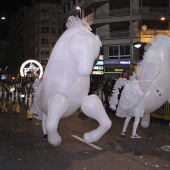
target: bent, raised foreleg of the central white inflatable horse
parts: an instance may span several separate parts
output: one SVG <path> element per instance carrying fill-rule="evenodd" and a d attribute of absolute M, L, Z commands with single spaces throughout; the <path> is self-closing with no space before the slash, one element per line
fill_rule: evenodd
<path fill-rule="evenodd" d="M 84 134 L 86 143 L 96 142 L 110 129 L 112 122 L 107 116 L 101 100 L 94 94 L 85 98 L 81 108 L 84 114 L 97 120 L 100 124 L 97 129 Z"/>

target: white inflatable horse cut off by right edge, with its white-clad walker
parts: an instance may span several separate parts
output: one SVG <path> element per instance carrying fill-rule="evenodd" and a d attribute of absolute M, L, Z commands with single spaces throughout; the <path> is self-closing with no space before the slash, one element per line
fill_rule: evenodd
<path fill-rule="evenodd" d="M 126 117 L 121 135 L 132 117 L 135 118 L 132 138 L 140 138 L 136 134 L 141 119 L 142 127 L 150 123 L 150 113 L 160 108 L 166 101 L 170 102 L 170 37 L 159 35 L 145 46 L 142 62 L 124 86 L 116 115 Z M 119 86 L 117 85 L 117 88 Z M 110 107 L 115 109 L 118 90 L 113 90 Z"/>

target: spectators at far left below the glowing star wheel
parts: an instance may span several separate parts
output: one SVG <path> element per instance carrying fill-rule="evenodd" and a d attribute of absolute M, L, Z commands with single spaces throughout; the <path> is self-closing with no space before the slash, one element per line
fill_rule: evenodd
<path fill-rule="evenodd" d="M 0 82 L 0 110 L 7 112 L 12 104 L 13 114 L 20 114 L 21 104 L 24 105 L 27 118 L 32 119 L 30 107 L 33 102 L 34 89 L 31 82 Z"/>

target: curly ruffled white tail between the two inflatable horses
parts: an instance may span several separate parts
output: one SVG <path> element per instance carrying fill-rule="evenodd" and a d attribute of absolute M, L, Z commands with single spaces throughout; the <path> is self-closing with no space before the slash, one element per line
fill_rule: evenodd
<path fill-rule="evenodd" d="M 127 83 L 128 83 L 128 80 L 126 78 L 117 79 L 117 81 L 113 87 L 113 90 L 112 90 L 112 95 L 109 100 L 110 108 L 113 111 L 116 110 L 117 105 L 119 103 L 119 99 L 121 97 L 121 92 Z"/>

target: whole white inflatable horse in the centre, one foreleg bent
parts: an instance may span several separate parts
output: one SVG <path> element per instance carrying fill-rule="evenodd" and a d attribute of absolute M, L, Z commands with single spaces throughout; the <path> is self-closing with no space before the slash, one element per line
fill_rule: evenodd
<path fill-rule="evenodd" d="M 86 143 L 99 140 L 112 124 L 101 100 L 88 96 L 90 74 L 101 46 L 99 37 L 78 17 L 70 16 L 66 26 L 51 53 L 37 98 L 38 109 L 46 115 L 48 142 L 54 146 L 61 142 L 57 132 L 60 118 L 70 116 L 80 106 L 84 114 L 99 122 L 97 129 L 84 134 Z"/>

